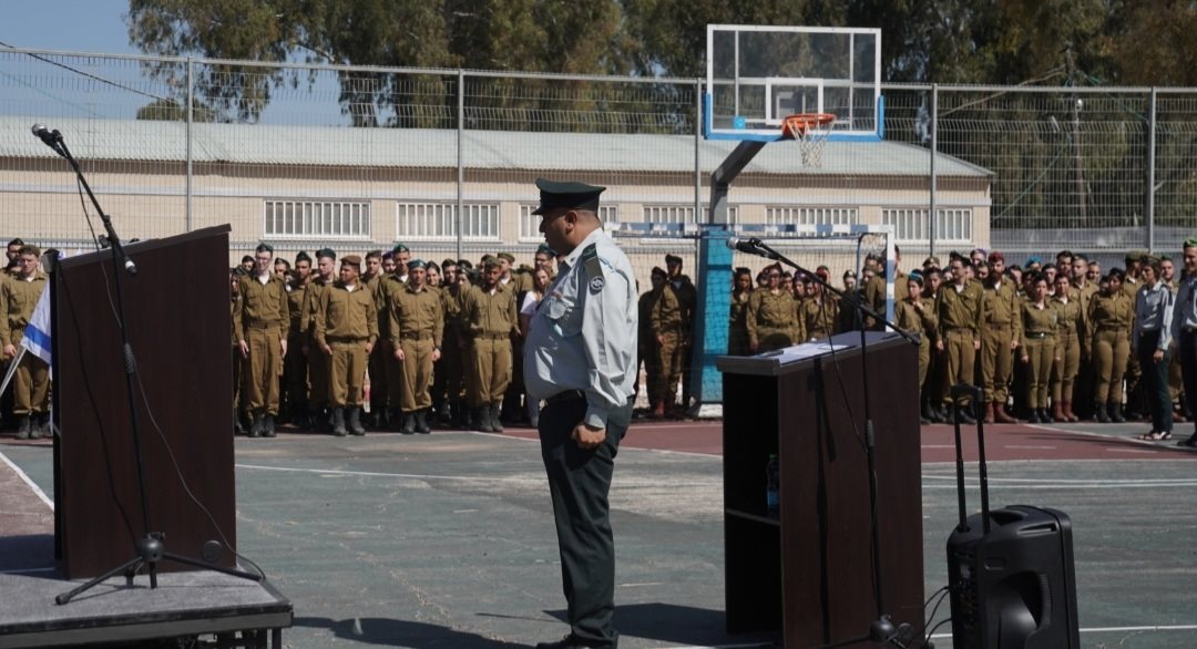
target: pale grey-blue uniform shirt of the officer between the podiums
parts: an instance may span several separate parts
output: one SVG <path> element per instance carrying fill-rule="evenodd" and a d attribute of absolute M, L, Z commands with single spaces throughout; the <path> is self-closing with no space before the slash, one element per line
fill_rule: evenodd
<path fill-rule="evenodd" d="M 524 342 L 524 386 L 546 399 L 567 390 L 587 397 L 585 423 L 607 427 L 636 385 L 636 280 L 624 251 L 591 232 L 558 269 Z"/>

